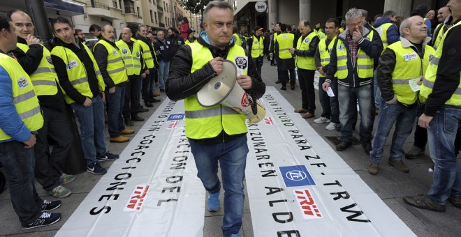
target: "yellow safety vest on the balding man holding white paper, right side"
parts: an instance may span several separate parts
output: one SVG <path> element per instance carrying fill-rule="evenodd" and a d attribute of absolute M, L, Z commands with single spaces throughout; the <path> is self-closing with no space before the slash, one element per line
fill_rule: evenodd
<path fill-rule="evenodd" d="M 425 45 L 424 57 L 421 59 L 412 47 L 403 47 L 401 41 L 389 45 L 388 48 L 395 53 L 395 68 L 392 72 L 393 91 L 399 102 L 413 105 L 418 99 L 418 92 L 411 90 L 409 80 L 424 75 L 435 50 Z"/>

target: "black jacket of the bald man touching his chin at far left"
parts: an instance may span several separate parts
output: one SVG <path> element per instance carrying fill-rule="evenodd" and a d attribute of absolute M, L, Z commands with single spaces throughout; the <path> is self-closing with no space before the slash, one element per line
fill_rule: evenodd
<path fill-rule="evenodd" d="M 27 41 L 23 38 L 17 37 L 17 43 L 22 43 L 27 45 Z M 20 63 L 22 69 L 27 72 L 28 75 L 37 70 L 40 61 L 43 58 L 43 46 L 42 45 L 30 45 L 29 50 L 23 52 L 19 47 L 8 52 L 14 56 L 18 63 Z M 64 105 L 64 94 L 58 86 L 58 91 L 54 95 L 38 95 L 38 102 L 40 106 L 54 108 L 54 109 L 63 109 Z"/>

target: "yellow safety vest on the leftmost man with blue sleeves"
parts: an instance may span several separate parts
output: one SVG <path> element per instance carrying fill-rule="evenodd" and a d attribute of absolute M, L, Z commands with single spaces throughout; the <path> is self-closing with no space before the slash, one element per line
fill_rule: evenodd
<path fill-rule="evenodd" d="M 12 100 L 17 114 L 26 128 L 31 131 L 39 130 L 43 126 L 43 116 L 29 75 L 24 72 L 15 59 L 6 54 L 0 53 L 0 65 L 10 75 L 13 89 Z M 0 141 L 8 139 L 11 137 L 0 128 Z"/>

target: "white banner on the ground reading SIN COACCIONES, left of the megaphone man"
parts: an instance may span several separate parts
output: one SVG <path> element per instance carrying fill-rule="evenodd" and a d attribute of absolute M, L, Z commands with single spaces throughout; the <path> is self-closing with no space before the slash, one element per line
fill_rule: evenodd
<path fill-rule="evenodd" d="M 167 99 L 56 236 L 203 236 L 196 175 L 184 104 Z"/>

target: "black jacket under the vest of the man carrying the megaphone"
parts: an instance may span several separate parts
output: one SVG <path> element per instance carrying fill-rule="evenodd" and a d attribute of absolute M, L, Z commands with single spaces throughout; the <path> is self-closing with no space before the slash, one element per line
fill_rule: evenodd
<path fill-rule="evenodd" d="M 233 42 L 221 50 L 214 47 L 203 40 L 202 36 L 198 38 L 198 43 L 209 48 L 213 57 L 221 56 L 226 58 L 229 49 L 233 47 Z M 248 53 L 247 53 L 248 55 Z M 253 88 L 249 91 L 257 98 L 261 98 L 265 93 L 265 84 L 258 78 L 258 72 L 252 60 L 248 60 L 248 75 L 253 81 Z M 170 74 L 166 82 L 166 95 L 170 100 L 183 100 L 189 96 L 196 94 L 202 87 L 210 82 L 210 79 L 217 76 L 210 62 L 206 63 L 203 68 L 191 73 L 192 68 L 192 52 L 191 47 L 186 45 L 180 47 L 177 54 L 173 56 L 173 61 L 170 66 Z"/>

